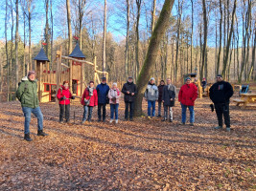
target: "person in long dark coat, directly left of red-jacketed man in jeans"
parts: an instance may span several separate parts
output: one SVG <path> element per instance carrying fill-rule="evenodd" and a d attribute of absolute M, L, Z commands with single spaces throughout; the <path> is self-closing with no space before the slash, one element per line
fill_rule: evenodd
<path fill-rule="evenodd" d="M 164 103 L 164 118 L 163 121 L 168 119 L 173 122 L 173 107 L 175 106 L 176 87 L 171 83 L 171 79 L 167 79 L 167 85 L 163 88 L 162 102 Z"/>

